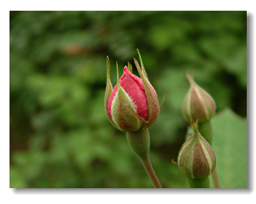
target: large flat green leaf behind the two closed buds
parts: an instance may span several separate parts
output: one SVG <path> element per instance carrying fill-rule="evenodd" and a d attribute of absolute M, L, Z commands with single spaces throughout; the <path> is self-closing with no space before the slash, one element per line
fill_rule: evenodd
<path fill-rule="evenodd" d="M 227 108 L 212 119 L 212 129 L 220 187 L 247 188 L 246 118 Z"/>

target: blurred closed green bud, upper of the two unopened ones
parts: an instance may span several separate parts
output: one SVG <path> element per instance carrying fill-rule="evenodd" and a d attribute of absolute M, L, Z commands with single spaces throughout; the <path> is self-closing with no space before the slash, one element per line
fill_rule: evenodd
<path fill-rule="evenodd" d="M 185 71 L 190 83 L 190 88 L 182 103 L 182 115 L 187 122 L 199 119 L 200 123 L 204 123 L 214 116 L 216 104 L 210 94 L 197 85 L 189 72 L 187 70 Z"/>

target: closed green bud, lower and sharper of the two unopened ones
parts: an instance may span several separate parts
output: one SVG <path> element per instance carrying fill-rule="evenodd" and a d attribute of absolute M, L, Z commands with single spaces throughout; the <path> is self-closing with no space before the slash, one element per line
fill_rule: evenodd
<path fill-rule="evenodd" d="M 216 158 L 209 143 L 198 132 L 198 120 L 191 121 L 191 126 L 194 132 L 180 149 L 178 166 L 187 177 L 201 179 L 215 169 Z"/>

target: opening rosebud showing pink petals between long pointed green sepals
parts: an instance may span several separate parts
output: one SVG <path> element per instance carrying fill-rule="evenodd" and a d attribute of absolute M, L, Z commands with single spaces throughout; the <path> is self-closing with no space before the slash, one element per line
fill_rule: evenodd
<path fill-rule="evenodd" d="M 141 78 L 132 74 L 132 66 L 128 62 L 128 68 L 124 67 L 120 79 L 118 79 L 117 66 L 117 84 L 113 88 L 107 57 L 105 110 L 110 122 L 121 131 L 138 131 L 147 128 L 154 123 L 159 113 L 157 93 L 147 79 L 143 64 L 140 68 L 136 59 L 134 61 Z"/>

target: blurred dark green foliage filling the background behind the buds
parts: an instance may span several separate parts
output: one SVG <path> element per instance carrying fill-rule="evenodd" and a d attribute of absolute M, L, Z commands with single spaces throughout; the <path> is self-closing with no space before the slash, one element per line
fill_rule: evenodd
<path fill-rule="evenodd" d="M 217 114 L 246 117 L 245 11 L 10 12 L 10 188 L 153 187 L 104 110 L 106 56 L 115 84 L 116 61 L 138 75 L 137 48 L 159 101 L 168 90 L 149 128 L 151 163 L 164 188 L 189 187 L 171 162 L 188 126 L 184 69 Z"/>

